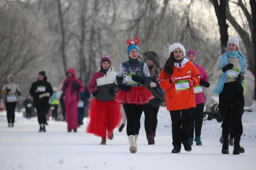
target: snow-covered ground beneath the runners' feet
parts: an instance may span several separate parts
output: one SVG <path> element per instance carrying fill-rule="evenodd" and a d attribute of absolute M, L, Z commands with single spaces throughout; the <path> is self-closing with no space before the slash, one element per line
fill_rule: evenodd
<path fill-rule="evenodd" d="M 255 109 L 254 109 L 255 111 Z M 126 132 L 115 130 L 113 140 L 99 145 L 101 139 L 85 133 L 67 133 L 65 122 L 49 121 L 46 133 L 39 133 L 36 118 L 26 120 L 16 113 L 13 128 L 7 127 L 5 112 L 0 113 L 0 170 L 256 170 L 256 112 L 243 114 L 244 154 L 221 154 L 221 123 L 204 121 L 202 146 L 182 148 L 172 154 L 171 121 L 165 107 L 160 108 L 155 145 L 147 145 L 144 116 L 138 152 L 128 151 Z M 86 120 L 84 120 L 86 124 Z"/>

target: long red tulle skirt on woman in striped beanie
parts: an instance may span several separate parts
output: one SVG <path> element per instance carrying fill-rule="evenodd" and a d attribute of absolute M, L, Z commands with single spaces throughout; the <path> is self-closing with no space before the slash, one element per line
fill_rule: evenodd
<path fill-rule="evenodd" d="M 121 105 L 116 101 L 91 100 L 88 114 L 87 133 L 110 138 L 121 121 Z"/>

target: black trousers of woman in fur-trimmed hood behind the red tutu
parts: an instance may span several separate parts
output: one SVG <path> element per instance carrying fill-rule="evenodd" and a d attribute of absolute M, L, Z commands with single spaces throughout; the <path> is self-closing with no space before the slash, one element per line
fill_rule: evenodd
<path fill-rule="evenodd" d="M 157 113 L 158 113 L 159 107 L 153 107 L 149 104 L 144 105 L 144 114 L 145 114 L 145 131 L 147 136 L 153 135 L 152 133 L 155 133 L 156 126 L 157 126 Z"/>

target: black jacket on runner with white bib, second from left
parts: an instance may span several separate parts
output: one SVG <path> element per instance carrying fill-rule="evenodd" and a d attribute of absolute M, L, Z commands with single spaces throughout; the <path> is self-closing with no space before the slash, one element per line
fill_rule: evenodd
<path fill-rule="evenodd" d="M 45 92 L 38 92 L 36 93 L 35 90 L 37 89 L 38 86 L 45 86 Z M 44 93 L 50 93 L 50 96 L 53 95 L 53 88 L 52 85 L 47 82 L 47 77 L 45 77 L 44 81 L 36 81 L 33 82 L 30 90 L 29 90 L 29 94 L 33 97 L 33 103 L 34 103 L 34 107 L 47 107 L 48 102 L 49 102 L 49 97 L 42 97 L 39 98 L 40 94 L 44 94 Z"/>

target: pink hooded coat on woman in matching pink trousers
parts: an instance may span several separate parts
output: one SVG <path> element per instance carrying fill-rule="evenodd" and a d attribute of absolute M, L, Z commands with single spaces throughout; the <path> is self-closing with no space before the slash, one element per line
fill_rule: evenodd
<path fill-rule="evenodd" d="M 65 92 L 65 101 L 68 101 L 69 103 L 73 101 L 79 101 L 79 92 L 84 92 L 85 88 L 82 84 L 81 80 L 76 78 L 76 73 L 74 68 L 67 69 L 67 73 L 72 73 L 73 77 L 66 78 L 62 84 L 61 90 Z M 68 82 L 69 81 L 69 82 Z M 65 87 L 65 83 L 68 82 L 67 87 Z M 76 90 L 74 88 L 74 83 L 78 83 L 80 88 L 79 90 Z"/>

